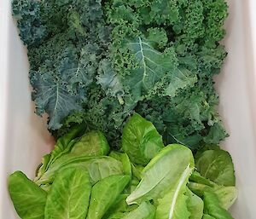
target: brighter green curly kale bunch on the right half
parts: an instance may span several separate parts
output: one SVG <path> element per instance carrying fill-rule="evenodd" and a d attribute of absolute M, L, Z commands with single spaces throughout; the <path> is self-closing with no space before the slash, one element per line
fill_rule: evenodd
<path fill-rule="evenodd" d="M 110 61 L 125 91 L 125 112 L 135 109 L 148 118 L 166 143 L 196 148 L 223 140 L 212 76 L 226 56 L 218 43 L 224 0 L 116 0 L 107 4 L 107 14 L 113 26 Z"/>

